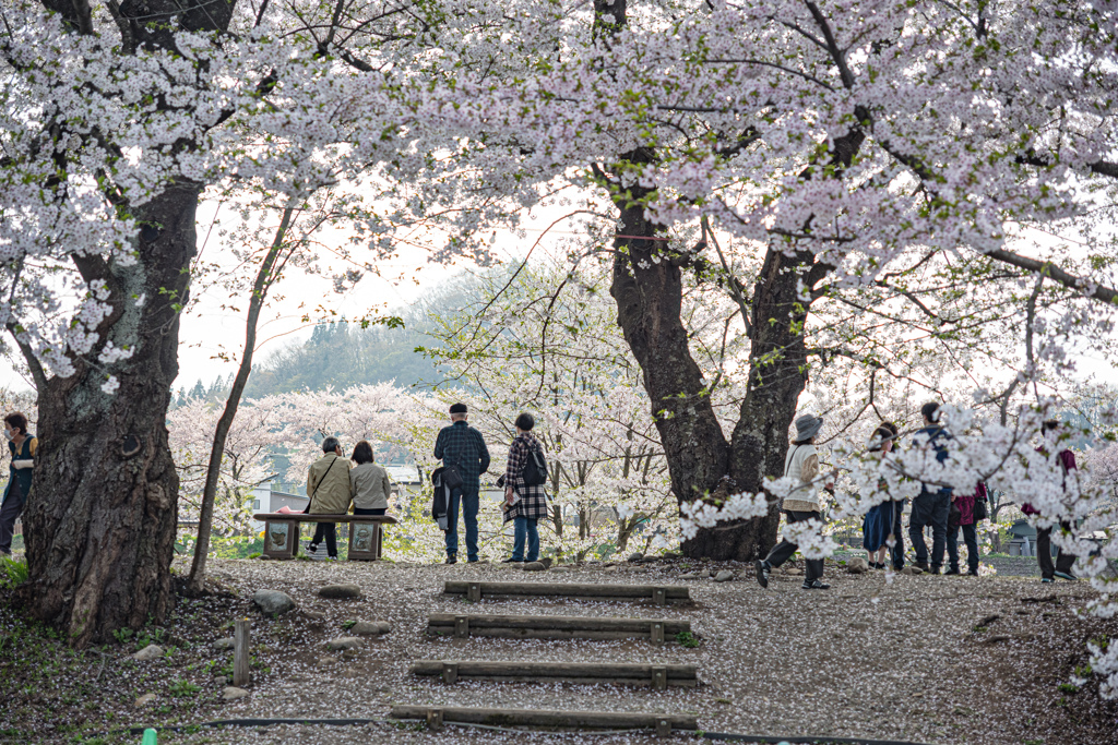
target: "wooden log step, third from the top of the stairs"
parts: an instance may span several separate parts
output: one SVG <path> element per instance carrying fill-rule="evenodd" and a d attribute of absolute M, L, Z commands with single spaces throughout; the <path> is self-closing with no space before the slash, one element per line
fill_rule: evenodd
<path fill-rule="evenodd" d="M 699 685 L 694 665 L 645 665 L 628 662 L 519 662 L 490 660 L 421 660 L 411 666 L 417 676 L 439 676 L 443 682 L 490 680 L 495 682 L 579 682 L 586 685 L 669 686 Z"/>

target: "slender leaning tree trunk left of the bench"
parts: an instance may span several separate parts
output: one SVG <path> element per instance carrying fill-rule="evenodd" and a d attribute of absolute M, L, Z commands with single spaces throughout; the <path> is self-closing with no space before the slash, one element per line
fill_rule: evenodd
<path fill-rule="evenodd" d="M 187 579 L 187 592 L 199 594 L 206 586 L 206 557 L 209 554 L 210 534 L 214 528 L 214 504 L 217 502 L 217 483 L 221 475 L 221 459 L 225 457 L 225 442 L 229 437 L 233 420 L 240 408 L 240 397 L 248 383 L 248 374 L 253 370 L 253 352 L 256 350 L 256 324 L 260 317 L 264 298 L 275 280 L 275 268 L 284 246 L 284 237 L 291 225 L 295 208 L 284 209 L 275 238 L 268 247 L 260 268 L 253 283 L 253 296 L 248 300 L 248 315 L 245 318 L 245 348 L 237 365 L 237 376 L 225 402 L 225 410 L 214 430 L 214 446 L 210 448 L 209 464 L 206 468 L 206 487 L 202 490 L 202 505 L 198 514 L 198 541 L 195 543 L 195 558 L 190 565 L 190 576 Z"/>

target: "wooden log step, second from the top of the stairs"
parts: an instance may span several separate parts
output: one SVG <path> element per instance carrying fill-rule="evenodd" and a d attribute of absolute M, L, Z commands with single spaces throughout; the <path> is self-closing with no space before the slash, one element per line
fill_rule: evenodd
<path fill-rule="evenodd" d="M 499 639 L 648 639 L 662 644 L 691 631 L 691 621 L 620 619 L 578 615 L 486 615 L 432 613 L 432 637 L 495 637 Z"/>

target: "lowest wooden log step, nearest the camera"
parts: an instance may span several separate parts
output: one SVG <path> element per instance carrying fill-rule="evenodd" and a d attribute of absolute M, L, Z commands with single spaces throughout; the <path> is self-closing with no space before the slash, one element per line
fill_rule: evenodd
<path fill-rule="evenodd" d="M 426 719 L 432 728 L 443 724 L 485 724 L 496 727 L 529 726 L 576 729 L 698 729 L 699 718 L 689 714 L 639 711 L 560 711 L 557 709 L 487 709 L 466 706 L 394 706 L 394 719 Z"/>

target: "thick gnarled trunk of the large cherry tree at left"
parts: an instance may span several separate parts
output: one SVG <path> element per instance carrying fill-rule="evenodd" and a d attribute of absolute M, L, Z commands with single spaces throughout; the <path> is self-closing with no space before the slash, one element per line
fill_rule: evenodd
<path fill-rule="evenodd" d="M 75 259 L 113 292 L 102 332 L 134 348 L 107 365 L 120 389 L 103 392 L 104 369 L 80 361 L 75 375 L 39 385 L 40 447 L 23 513 L 29 580 L 20 591 L 31 615 L 78 647 L 162 622 L 172 602 L 179 478 L 165 421 L 200 191 L 180 181 L 136 210 L 145 227 L 133 265 Z"/>

